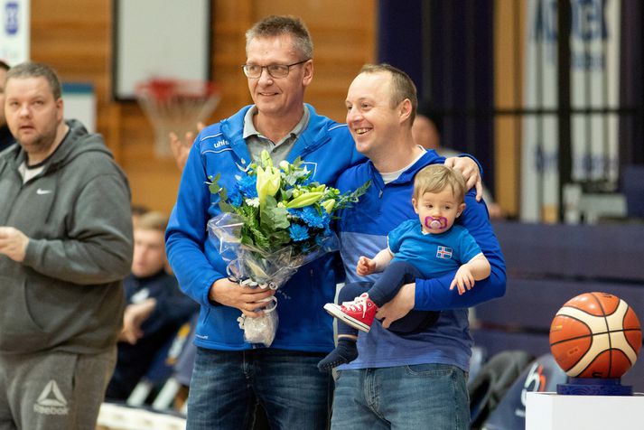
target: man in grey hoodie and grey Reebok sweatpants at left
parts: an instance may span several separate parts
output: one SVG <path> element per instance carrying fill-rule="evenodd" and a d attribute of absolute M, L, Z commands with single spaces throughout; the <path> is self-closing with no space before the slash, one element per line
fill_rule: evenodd
<path fill-rule="evenodd" d="M 0 428 L 94 428 L 132 261 L 130 192 L 101 136 L 63 119 L 54 70 L 7 72 L 0 155 Z"/>

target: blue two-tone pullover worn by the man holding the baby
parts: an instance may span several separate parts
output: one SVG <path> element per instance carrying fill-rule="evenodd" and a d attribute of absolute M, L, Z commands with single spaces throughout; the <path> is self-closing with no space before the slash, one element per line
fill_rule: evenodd
<path fill-rule="evenodd" d="M 374 280 L 378 275 L 357 276 L 355 267 L 360 256 L 372 257 L 387 247 L 387 233 L 401 222 L 417 219 L 411 203 L 414 191 L 414 176 L 427 164 L 443 163 L 444 158 L 433 150 L 427 151 L 412 167 L 387 185 L 382 181 L 374 165 L 367 161 L 359 164 L 338 180 L 341 192 L 351 190 L 358 184 L 372 181 L 371 187 L 352 208 L 342 210 L 339 221 L 341 255 L 347 282 Z M 469 367 L 471 336 L 467 308 L 505 294 L 505 261 L 499 241 L 490 226 L 484 202 L 476 201 L 476 192 L 470 190 L 465 196 L 466 207 L 457 223 L 468 229 L 485 257 L 490 260 L 491 274 L 487 279 L 459 295 L 456 288 L 450 290 L 452 273 L 434 279 L 417 279 L 415 309 L 442 311 L 434 326 L 425 332 L 398 335 L 382 328 L 379 322 L 371 326 L 369 333 L 360 333 L 359 357 L 341 369 L 381 368 L 425 363 L 440 363 Z"/>

